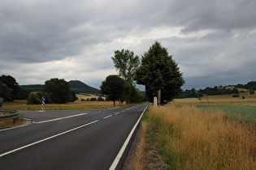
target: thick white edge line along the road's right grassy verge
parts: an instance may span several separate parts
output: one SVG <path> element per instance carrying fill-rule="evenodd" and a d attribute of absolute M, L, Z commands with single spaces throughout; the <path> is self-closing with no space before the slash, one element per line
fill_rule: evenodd
<path fill-rule="evenodd" d="M 145 113 L 146 108 L 148 108 L 149 105 L 147 105 L 147 107 L 145 107 L 145 109 L 143 110 L 143 112 L 141 113 L 141 117 L 143 116 L 143 114 Z M 139 122 L 141 121 L 141 117 L 138 119 L 137 123 L 133 126 L 130 134 L 128 135 L 128 137 L 126 138 L 123 147 L 121 147 L 119 153 L 116 155 L 114 162 L 111 164 L 111 168 L 109 168 L 110 170 L 115 170 L 116 166 L 119 164 L 119 160 L 121 159 L 122 155 L 124 154 L 124 150 L 125 148 L 128 146 L 128 142 L 130 141 L 130 139 L 132 138 L 132 134 L 134 133 L 134 131 L 137 128 L 137 125 L 139 124 Z"/>

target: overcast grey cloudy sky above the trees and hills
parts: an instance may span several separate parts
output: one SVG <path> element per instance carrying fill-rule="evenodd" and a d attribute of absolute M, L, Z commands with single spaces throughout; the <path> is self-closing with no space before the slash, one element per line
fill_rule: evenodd
<path fill-rule="evenodd" d="M 99 89 L 117 74 L 115 50 L 141 57 L 158 40 L 183 89 L 245 84 L 256 81 L 255 9 L 255 0 L 1 0 L 0 74 Z"/>

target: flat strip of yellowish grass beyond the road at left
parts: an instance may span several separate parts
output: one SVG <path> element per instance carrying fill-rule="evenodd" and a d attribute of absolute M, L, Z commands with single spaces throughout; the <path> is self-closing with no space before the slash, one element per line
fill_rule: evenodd
<path fill-rule="evenodd" d="M 115 107 L 120 106 L 115 102 Z M 27 100 L 15 100 L 4 102 L 3 109 L 13 110 L 41 110 L 41 104 L 27 104 Z M 66 104 L 46 104 L 44 110 L 74 110 L 74 109 L 93 109 L 93 108 L 114 108 L 113 101 L 80 101 L 69 102 Z"/>

